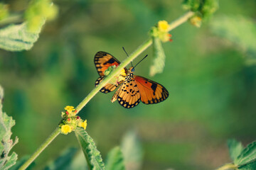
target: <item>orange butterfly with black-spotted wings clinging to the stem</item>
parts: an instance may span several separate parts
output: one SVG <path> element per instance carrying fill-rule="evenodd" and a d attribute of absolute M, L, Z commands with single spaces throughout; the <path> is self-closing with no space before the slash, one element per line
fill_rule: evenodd
<path fill-rule="evenodd" d="M 108 69 L 118 67 L 120 64 L 114 56 L 102 51 L 96 53 L 94 62 L 97 72 L 100 74 L 100 77 L 95 82 L 95 86 L 100 84 L 107 76 Z M 100 91 L 107 94 L 119 86 L 111 101 L 117 100 L 124 108 L 133 108 L 140 101 L 145 104 L 159 103 L 169 96 L 169 92 L 161 84 L 134 75 L 134 67 L 124 68 L 114 81 L 116 82 L 109 82 Z"/>

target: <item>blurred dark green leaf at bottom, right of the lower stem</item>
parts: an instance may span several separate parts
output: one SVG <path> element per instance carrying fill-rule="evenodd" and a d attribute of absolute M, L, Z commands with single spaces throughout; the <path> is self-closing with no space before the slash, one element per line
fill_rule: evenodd
<path fill-rule="evenodd" d="M 55 159 L 54 162 L 51 162 L 48 166 L 46 166 L 45 170 L 52 170 L 52 169 L 62 169 L 62 170 L 68 170 L 70 169 L 70 164 L 73 160 L 73 157 L 75 156 L 75 153 L 78 149 L 76 148 L 68 148 L 66 149 L 60 157 Z"/>

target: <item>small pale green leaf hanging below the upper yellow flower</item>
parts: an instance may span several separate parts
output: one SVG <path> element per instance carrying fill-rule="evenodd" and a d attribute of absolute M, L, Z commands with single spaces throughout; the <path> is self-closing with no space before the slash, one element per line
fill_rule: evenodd
<path fill-rule="evenodd" d="M 150 67 L 149 75 L 152 77 L 157 73 L 161 73 L 164 70 L 165 55 L 164 49 L 159 38 L 153 38 L 153 52 L 154 62 Z"/>

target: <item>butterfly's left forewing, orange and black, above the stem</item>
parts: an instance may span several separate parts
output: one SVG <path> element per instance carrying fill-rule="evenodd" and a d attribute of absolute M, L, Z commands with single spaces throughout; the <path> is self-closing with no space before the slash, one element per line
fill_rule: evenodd
<path fill-rule="evenodd" d="M 105 70 L 110 66 L 118 66 L 120 62 L 112 55 L 107 52 L 97 52 L 95 55 L 95 67 L 100 76 L 105 76 Z"/>

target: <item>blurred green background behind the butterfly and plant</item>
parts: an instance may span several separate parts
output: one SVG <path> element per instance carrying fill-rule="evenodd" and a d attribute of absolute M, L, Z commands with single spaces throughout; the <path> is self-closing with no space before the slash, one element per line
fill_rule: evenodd
<path fill-rule="evenodd" d="M 99 77 L 96 52 L 122 61 L 148 38 L 159 20 L 174 21 L 182 1 L 54 1 L 58 18 L 46 23 L 32 50 L 0 50 L 0 84 L 4 111 L 16 120 L 14 151 L 32 154 L 58 125 L 67 105 L 77 106 Z M 11 11 L 23 11 L 28 1 L 11 0 Z M 151 47 L 136 74 L 163 84 L 169 98 L 156 105 L 125 109 L 111 103 L 114 93 L 97 94 L 79 113 L 103 159 L 135 130 L 144 152 L 142 169 L 215 169 L 231 162 L 226 142 L 244 145 L 255 140 L 256 2 L 220 1 L 220 8 L 201 28 L 185 23 L 171 31 L 164 44 L 164 73 L 149 77 Z M 249 27 L 250 26 L 250 27 Z M 248 31 L 249 30 L 249 31 Z M 255 44 L 254 44 L 255 42 Z M 36 168 L 79 147 L 73 134 L 59 135 L 36 159 Z"/>

